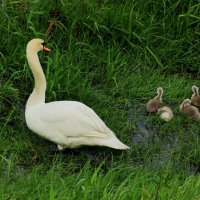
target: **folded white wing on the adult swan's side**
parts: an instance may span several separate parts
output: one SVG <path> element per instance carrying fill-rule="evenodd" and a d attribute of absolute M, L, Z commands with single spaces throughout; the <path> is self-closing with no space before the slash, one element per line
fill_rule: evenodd
<path fill-rule="evenodd" d="M 67 137 L 108 138 L 111 132 L 91 108 L 76 101 L 44 104 L 37 116 L 47 131 Z"/>

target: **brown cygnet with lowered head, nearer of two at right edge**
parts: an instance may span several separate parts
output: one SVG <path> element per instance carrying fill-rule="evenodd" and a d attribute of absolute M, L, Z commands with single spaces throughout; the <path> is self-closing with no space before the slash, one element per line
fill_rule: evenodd
<path fill-rule="evenodd" d="M 185 99 L 180 105 L 180 112 L 185 113 L 191 117 L 194 121 L 200 121 L 200 113 L 195 106 L 191 105 L 190 99 Z"/>

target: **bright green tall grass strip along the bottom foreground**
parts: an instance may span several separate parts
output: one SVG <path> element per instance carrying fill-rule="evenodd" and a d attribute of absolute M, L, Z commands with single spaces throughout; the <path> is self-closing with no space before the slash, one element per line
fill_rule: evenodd
<path fill-rule="evenodd" d="M 35 167 L 31 172 L 7 175 L 0 183 L 1 199 L 193 199 L 199 198 L 198 177 L 176 175 L 166 167 L 154 172 L 144 167 L 120 165 L 105 172 L 102 162 L 93 167 L 59 160 L 50 168 Z M 26 179 L 26 181 L 24 181 Z"/>

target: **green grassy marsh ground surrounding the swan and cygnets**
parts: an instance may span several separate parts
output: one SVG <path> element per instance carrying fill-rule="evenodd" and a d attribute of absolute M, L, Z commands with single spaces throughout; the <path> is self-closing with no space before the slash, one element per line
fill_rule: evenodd
<path fill-rule="evenodd" d="M 200 125 L 179 112 L 200 86 L 199 30 L 197 0 L 0 1 L 0 199 L 199 200 Z M 130 150 L 59 152 L 27 128 L 32 38 L 52 50 L 46 102 L 85 103 Z M 144 111 L 159 86 L 168 123 Z"/>

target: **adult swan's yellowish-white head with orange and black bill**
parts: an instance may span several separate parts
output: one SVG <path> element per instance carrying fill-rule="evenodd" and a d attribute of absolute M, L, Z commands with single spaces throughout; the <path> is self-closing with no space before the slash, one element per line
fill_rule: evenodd
<path fill-rule="evenodd" d="M 50 51 L 50 49 L 48 49 L 48 47 L 46 46 L 46 43 L 44 42 L 44 40 L 36 38 L 36 39 L 32 39 L 31 41 L 29 41 L 29 43 L 27 44 L 27 50 L 31 50 L 31 51 Z"/>

